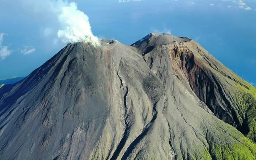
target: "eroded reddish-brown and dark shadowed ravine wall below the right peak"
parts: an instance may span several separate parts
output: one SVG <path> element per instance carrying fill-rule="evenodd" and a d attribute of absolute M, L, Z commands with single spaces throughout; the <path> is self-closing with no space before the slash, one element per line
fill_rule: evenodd
<path fill-rule="evenodd" d="M 183 81 L 185 79 L 188 80 L 192 90 L 218 118 L 234 126 L 241 125 L 235 113 L 231 112 L 231 114 L 229 114 L 226 112 L 226 110 L 232 109 L 231 104 L 225 99 L 223 91 L 218 89 L 221 86 L 217 78 L 215 78 L 215 75 L 210 72 L 209 68 L 212 68 L 211 63 L 208 63 L 209 66 L 203 66 L 203 64 L 206 63 L 202 61 L 206 61 L 206 57 L 199 59 L 184 42 L 175 42 L 173 45 L 170 45 L 169 49 L 172 69 L 175 71 L 178 78 Z M 196 49 L 197 54 L 202 54 L 202 50 L 200 50 L 198 46 Z M 221 104 L 218 102 L 219 98 L 224 100 L 221 101 Z M 222 106 L 224 106 L 224 108 L 222 108 Z"/>

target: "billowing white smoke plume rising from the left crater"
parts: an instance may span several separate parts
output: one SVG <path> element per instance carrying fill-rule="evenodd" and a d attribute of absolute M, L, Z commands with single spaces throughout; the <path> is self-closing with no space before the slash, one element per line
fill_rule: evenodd
<path fill-rule="evenodd" d="M 80 11 L 76 2 L 64 0 L 20 0 L 27 7 L 34 6 L 34 12 L 49 15 L 50 19 L 55 19 L 51 27 L 47 28 L 45 35 L 51 33 L 58 36 L 64 43 L 79 41 L 92 42 L 99 44 L 98 38 L 92 34 L 88 16 Z M 58 22 L 59 28 L 55 28 Z"/>

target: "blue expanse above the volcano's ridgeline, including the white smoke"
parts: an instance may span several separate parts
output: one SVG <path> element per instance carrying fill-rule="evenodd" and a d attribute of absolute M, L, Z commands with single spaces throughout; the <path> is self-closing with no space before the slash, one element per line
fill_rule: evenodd
<path fill-rule="evenodd" d="M 256 85 L 255 0 L 1 0 L 0 79 L 27 76 L 68 42 L 186 36 Z"/>

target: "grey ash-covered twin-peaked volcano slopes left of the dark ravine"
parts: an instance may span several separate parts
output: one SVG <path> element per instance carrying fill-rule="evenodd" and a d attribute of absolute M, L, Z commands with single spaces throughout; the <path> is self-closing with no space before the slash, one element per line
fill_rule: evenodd
<path fill-rule="evenodd" d="M 160 34 L 133 46 L 69 44 L 0 88 L 0 159 L 255 159 L 256 144 L 213 115 L 223 104 L 200 96 L 208 85 L 187 66 L 212 66 L 186 59 L 200 53 L 193 44 Z"/>

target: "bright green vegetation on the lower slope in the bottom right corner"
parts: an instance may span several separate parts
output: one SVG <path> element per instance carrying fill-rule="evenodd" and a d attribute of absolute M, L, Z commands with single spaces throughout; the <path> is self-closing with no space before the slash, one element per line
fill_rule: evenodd
<path fill-rule="evenodd" d="M 216 129 L 207 136 L 209 153 L 213 160 L 256 159 L 256 144 L 238 132 L 235 127 L 223 124 Z M 218 130 L 225 130 L 226 135 L 223 136 Z"/>

